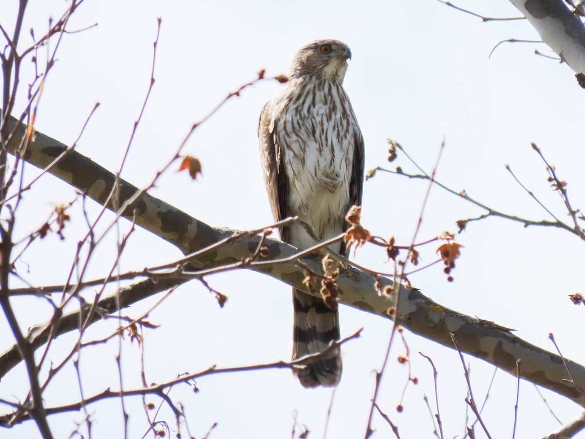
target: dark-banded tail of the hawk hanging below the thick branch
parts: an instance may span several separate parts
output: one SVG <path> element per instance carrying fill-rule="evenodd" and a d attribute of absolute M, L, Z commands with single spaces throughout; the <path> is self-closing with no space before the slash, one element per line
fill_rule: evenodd
<path fill-rule="evenodd" d="M 294 328 L 292 359 L 324 351 L 333 340 L 339 340 L 339 313 L 324 301 L 293 290 Z M 341 378 L 341 351 L 334 349 L 303 369 L 294 369 L 304 387 L 336 386 Z"/>

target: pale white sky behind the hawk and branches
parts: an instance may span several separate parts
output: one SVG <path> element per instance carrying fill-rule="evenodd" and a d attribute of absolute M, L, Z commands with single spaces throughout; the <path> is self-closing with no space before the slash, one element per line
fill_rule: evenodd
<path fill-rule="evenodd" d="M 1 23 L 12 29 L 16 4 L 2 5 Z M 68 3 L 32 1 L 24 29 L 33 26 L 42 35 L 49 16 L 57 18 Z M 460 6 L 490 16 L 517 16 L 507 1 L 460 2 Z M 527 22 L 481 23 L 434 0 L 423 2 L 336 1 L 315 2 L 153 2 L 87 1 L 75 12 L 71 29 L 97 22 L 97 28 L 66 35 L 59 61 L 50 72 L 39 108 L 36 128 L 64 143 L 73 142 L 95 102 L 101 102 L 79 142 L 78 150 L 110 170 L 118 169 L 133 122 L 149 84 L 156 18 L 163 22 L 157 52 L 153 92 L 136 134 L 123 177 L 136 186 L 147 184 L 180 145 L 191 124 L 205 116 L 228 92 L 256 77 L 287 73 L 295 52 L 314 39 L 335 38 L 352 48 L 345 87 L 352 100 L 366 142 L 366 169 L 386 166 L 386 138 L 398 140 L 426 170 L 431 170 L 443 138 L 437 178 L 498 210 L 542 219 L 545 212 L 504 169 L 508 163 L 521 181 L 550 210 L 565 218 L 558 194 L 549 190 L 546 172 L 530 148 L 535 142 L 559 176 L 569 182 L 574 207 L 583 197 L 583 93 L 565 65 L 534 55 L 543 44 L 495 44 L 511 37 L 538 39 Z M 29 44 L 27 32 L 22 47 Z M 552 53 L 551 53 L 552 54 Z M 17 112 L 23 108 L 30 66 L 25 64 Z M 259 167 L 256 126 L 264 102 L 283 87 L 263 81 L 230 100 L 194 133 L 185 153 L 199 157 L 203 176 L 192 182 L 187 174 L 168 172 L 152 194 L 214 226 L 258 228 L 271 223 L 270 209 Z M 413 170 L 404 157 L 398 162 Z M 176 169 L 177 166 L 174 167 Z M 26 176 L 36 171 L 30 167 Z M 379 173 L 364 184 L 363 224 L 373 234 L 395 235 L 408 244 L 420 212 L 426 183 Z M 42 224 L 50 202 L 63 203 L 74 191 L 51 176 L 43 177 L 29 193 L 20 212 L 24 234 Z M 98 212 L 88 201 L 90 212 Z M 424 213 L 421 239 L 444 229 L 455 231 L 457 219 L 481 214 L 479 208 L 433 188 Z M 50 236 L 27 253 L 29 282 L 64 283 L 77 241 L 84 231 L 79 206 L 71 211 L 66 240 Z M 25 219 L 28 218 L 28 219 Z M 111 219 L 111 217 L 109 218 Z M 122 223 L 123 224 L 123 223 Z M 127 225 L 123 224 L 125 230 Z M 583 363 L 583 310 L 567 294 L 583 291 L 583 245 L 565 231 L 522 228 L 501 219 L 474 222 L 457 236 L 465 248 L 446 282 L 440 266 L 411 277 L 414 286 L 443 306 L 495 321 L 518 330 L 526 340 L 552 350 L 553 332 L 567 358 Z M 103 276 L 115 255 L 115 233 L 95 256 L 87 279 Z M 142 269 L 171 262 L 180 253 L 148 232 L 138 230 L 123 253 L 122 270 Z M 435 257 L 433 248 L 422 254 Z M 379 249 L 362 249 L 363 265 L 391 271 Z M 26 270 L 25 265 L 19 270 Z M 24 271 L 23 271 L 24 272 Z M 229 296 L 219 309 L 197 282 L 178 288 L 148 320 L 160 324 L 147 330 L 146 373 L 149 382 L 173 379 L 178 373 L 197 372 L 211 365 L 251 365 L 288 359 L 291 351 L 292 306 L 290 287 L 267 276 L 234 272 L 210 277 L 213 287 Z M 125 313 L 138 317 L 160 296 L 133 305 Z M 23 328 L 50 315 L 41 300 L 15 301 Z M 363 337 L 343 350 L 344 372 L 333 403 L 329 438 L 363 437 L 369 400 L 374 390 L 373 370 L 386 351 L 391 324 L 380 317 L 341 307 L 342 335 L 364 327 Z M 103 337 L 112 323 L 99 323 L 87 337 Z M 431 414 L 422 399 L 434 407 L 432 371 L 417 352 L 432 357 L 439 372 L 439 400 L 445 437 L 464 431 L 466 384 L 457 352 L 405 332 L 411 351 L 412 374 L 418 386 L 409 386 L 404 412 L 396 413 L 407 368 L 398 365 L 404 347 L 397 340 L 381 385 L 381 409 L 400 428 L 403 438 L 432 437 Z M 59 362 L 75 335 L 53 344 Z M 0 318 L 0 349 L 12 344 L 12 335 Z M 83 351 L 80 359 L 85 396 L 119 386 L 115 356 L 117 342 Z M 493 367 L 469 358 L 476 400 L 482 402 Z M 139 349 L 126 338 L 122 350 L 125 387 L 140 386 Z M 73 367 L 49 387 L 47 406 L 74 402 L 79 389 Z M 25 397 L 25 368 L 13 369 L 0 383 L 0 398 Z M 211 376 L 198 380 L 201 393 L 177 386 L 174 400 L 183 402 L 191 434 L 210 438 L 290 437 L 295 411 L 311 438 L 323 437 L 331 389 L 306 390 L 287 370 Z M 516 380 L 498 371 L 484 411 L 493 437 L 511 437 Z M 553 393 L 542 391 L 563 421 L 581 409 Z M 148 400 L 158 402 L 156 397 Z M 141 437 L 147 425 L 139 397 L 126 400 L 130 437 Z M 92 404 L 94 438 L 122 434 L 119 400 Z M 434 410 L 434 408 L 433 408 Z M 2 407 L 2 412 L 6 407 Z M 81 413 L 51 417 L 56 437 L 68 437 Z M 174 428 L 166 407 L 160 420 Z M 557 427 L 531 383 L 522 382 L 517 437 L 542 437 Z M 392 437 L 387 424 L 374 417 L 374 437 Z M 173 432 L 173 436 L 176 432 Z M 484 437 L 476 430 L 477 437 Z M 32 422 L 2 437 L 36 437 Z M 185 432 L 183 432 L 185 434 Z M 186 435 L 185 435 L 186 437 Z M 585 434 L 581 436 L 585 437 Z"/>

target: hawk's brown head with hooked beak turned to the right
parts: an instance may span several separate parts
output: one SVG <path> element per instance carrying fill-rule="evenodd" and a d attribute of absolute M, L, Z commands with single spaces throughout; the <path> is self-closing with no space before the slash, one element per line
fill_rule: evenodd
<path fill-rule="evenodd" d="M 343 82 L 352 51 L 338 40 L 316 40 L 299 50 L 292 60 L 291 77 L 318 76 Z"/>

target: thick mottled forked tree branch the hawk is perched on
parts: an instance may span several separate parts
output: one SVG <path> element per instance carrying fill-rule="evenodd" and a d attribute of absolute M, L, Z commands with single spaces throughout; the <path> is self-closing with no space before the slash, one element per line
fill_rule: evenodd
<path fill-rule="evenodd" d="M 12 119 L 11 127 L 16 132 L 11 148 L 16 150 L 19 140 L 25 135 L 26 126 L 19 125 L 18 121 Z M 44 169 L 61 154 L 63 157 L 53 164 L 48 172 L 88 194 L 98 203 L 104 204 L 109 198 L 116 177 L 80 153 L 68 150 L 63 143 L 36 132 L 24 159 Z M 133 200 L 137 193 L 140 194 L 125 208 L 123 216 L 133 219 L 144 229 L 173 243 L 184 253 L 204 249 L 237 233 L 230 229 L 214 228 L 198 221 L 150 194 L 140 193 L 136 187 L 126 181 L 120 180 L 119 187 L 118 205 L 124 205 L 129 200 Z M 108 207 L 111 208 L 111 205 Z M 201 258 L 194 261 L 194 266 L 196 269 L 207 269 L 249 258 L 261 239 L 263 238 L 259 235 L 243 234 L 238 239 L 229 240 L 225 245 L 218 246 L 213 252 L 204 253 Z M 276 239 L 265 239 L 264 245 L 267 248 L 267 259 L 286 258 L 298 252 L 298 249 Z M 305 256 L 301 258 L 301 261 L 315 272 L 321 270 L 319 256 Z M 306 291 L 302 284 L 303 269 L 294 260 L 252 269 Z M 124 287 L 112 296 L 103 297 L 97 303 L 97 308 L 105 313 L 113 313 L 118 310 L 116 294 L 120 294 L 119 303 L 125 307 L 144 297 L 183 283 L 185 280 L 185 277 L 169 278 L 164 282 L 161 282 L 161 279 L 157 282 L 150 279 L 143 280 Z M 338 278 L 341 303 L 389 318 L 388 307 L 395 306 L 395 300 L 393 297 L 378 293 L 376 289 L 378 281 L 383 285 L 392 284 L 390 279 L 377 278 L 354 267 L 342 269 Z M 575 387 L 585 388 L 585 368 L 578 363 L 567 361 L 574 379 L 573 386 L 565 380 L 569 378 L 569 374 L 558 355 L 529 344 L 506 328 L 442 307 L 417 289 L 400 286 L 397 309 L 399 323 L 415 334 L 454 348 L 450 336 L 450 333 L 453 333 L 463 352 L 490 362 L 512 375 L 516 373 L 517 359 L 521 359 L 522 378 L 553 390 L 585 407 L 585 398 Z M 61 319 L 63 323 L 60 323 L 54 335 L 77 328 L 81 312 L 87 313 L 87 309 L 65 315 Z M 90 316 L 92 321 L 99 320 L 99 317 L 99 313 Z M 49 325 L 50 322 L 47 322 L 33 327 L 29 342 L 35 349 L 47 341 Z M 19 361 L 18 351 L 15 348 L 8 349 L 0 356 L 0 376 L 4 376 Z"/>

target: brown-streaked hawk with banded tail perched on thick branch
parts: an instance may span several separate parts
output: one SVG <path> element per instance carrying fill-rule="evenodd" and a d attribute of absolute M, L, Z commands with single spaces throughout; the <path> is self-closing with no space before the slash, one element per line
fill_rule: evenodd
<path fill-rule="evenodd" d="M 286 87 L 264 105 L 258 125 L 274 219 L 298 215 L 323 241 L 342 233 L 349 208 L 362 204 L 364 142 L 342 86 L 351 57 L 347 44 L 337 40 L 302 47 Z M 281 229 L 280 236 L 300 249 L 316 243 L 301 225 Z M 347 254 L 343 242 L 330 248 Z M 322 352 L 339 339 L 337 309 L 297 289 L 292 304 L 292 359 Z M 338 348 L 294 373 L 304 387 L 335 386 L 341 370 Z"/>

